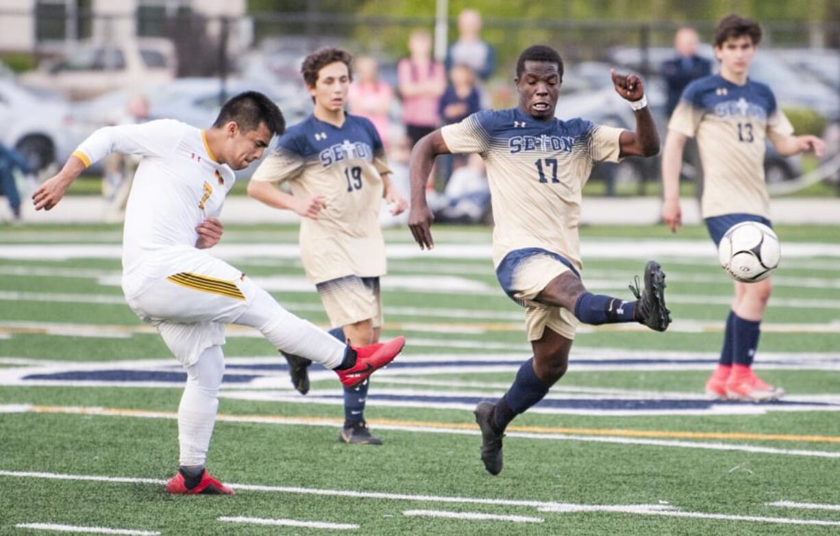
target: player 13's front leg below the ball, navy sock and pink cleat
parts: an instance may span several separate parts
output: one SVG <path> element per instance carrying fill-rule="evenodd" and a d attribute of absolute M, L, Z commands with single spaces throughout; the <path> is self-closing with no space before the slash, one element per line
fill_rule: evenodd
<path fill-rule="evenodd" d="M 753 372 L 753 358 L 759 347 L 761 320 L 770 298 L 770 279 L 758 283 L 735 282 L 732 301 L 731 370 L 726 380 L 726 396 L 736 400 L 760 402 L 784 396 L 785 390 L 768 385 Z M 728 327 L 728 326 L 727 326 Z M 725 336 L 726 336 L 725 335 Z M 724 346 L 727 341 L 724 341 Z M 721 367 L 718 368 L 720 370 Z M 716 374 L 720 374 L 718 371 Z"/>

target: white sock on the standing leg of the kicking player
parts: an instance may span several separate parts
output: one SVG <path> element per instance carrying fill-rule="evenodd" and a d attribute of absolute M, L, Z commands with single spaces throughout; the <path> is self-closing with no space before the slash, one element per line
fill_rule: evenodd
<path fill-rule="evenodd" d="M 218 409 L 218 387 L 224 375 L 221 346 L 210 346 L 186 368 L 186 387 L 178 406 L 181 466 L 203 466 Z"/>

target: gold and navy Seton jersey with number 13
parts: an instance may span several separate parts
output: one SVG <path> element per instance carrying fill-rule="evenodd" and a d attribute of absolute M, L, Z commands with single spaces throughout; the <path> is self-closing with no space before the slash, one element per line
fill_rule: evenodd
<path fill-rule="evenodd" d="M 793 127 L 768 86 L 755 81 L 737 86 L 720 75 L 693 81 L 683 91 L 668 128 L 697 138 L 704 218 L 736 213 L 769 218 L 766 140 L 790 136 Z"/>

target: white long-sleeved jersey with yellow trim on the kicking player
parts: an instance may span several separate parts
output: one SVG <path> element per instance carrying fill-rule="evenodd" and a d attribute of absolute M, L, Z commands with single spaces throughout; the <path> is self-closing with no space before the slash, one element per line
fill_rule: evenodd
<path fill-rule="evenodd" d="M 236 177 L 216 161 L 204 131 L 172 119 L 100 128 L 73 154 L 90 165 L 112 152 L 143 157 L 123 227 L 123 291 L 130 299 L 170 276 L 179 252 L 195 250 L 196 227 L 218 217 Z"/>

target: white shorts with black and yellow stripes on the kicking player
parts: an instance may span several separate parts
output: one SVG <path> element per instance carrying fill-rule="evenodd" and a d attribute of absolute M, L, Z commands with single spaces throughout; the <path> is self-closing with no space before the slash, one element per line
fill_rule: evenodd
<path fill-rule="evenodd" d="M 201 250 L 183 252 L 166 272 L 168 276 L 145 284 L 140 294 L 127 299 L 134 313 L 154 325 L 176 359 L 189 367 L 202 351 L 224 344 L 224 325 L 242 315 L 257 287 L 244 273 Z"/>

